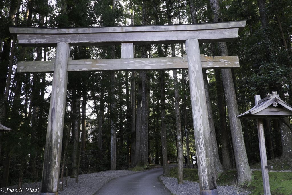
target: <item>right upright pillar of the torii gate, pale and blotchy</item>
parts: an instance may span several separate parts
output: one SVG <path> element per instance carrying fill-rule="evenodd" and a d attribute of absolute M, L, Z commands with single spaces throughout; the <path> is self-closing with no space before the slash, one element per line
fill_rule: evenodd
<path fill-rule="evenodd" d="M 197 150 L 200 194 L 218 194 L 214 169 L 213 150 L 208 120 L 207 103 L 199 41 L 188 39 L 185 42 L 192 104 L 192 117 Z"/>

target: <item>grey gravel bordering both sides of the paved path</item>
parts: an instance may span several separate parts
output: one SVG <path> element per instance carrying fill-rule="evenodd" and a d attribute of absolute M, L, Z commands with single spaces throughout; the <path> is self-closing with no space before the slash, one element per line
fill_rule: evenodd
<path fill-rule="evenodd" d="M 59 191 L 59 195 L 91 195 L 100 189 L 104 184 L 110 180 L 136 173 L 130 170 L 114 170 L 114 171 L 102 171 L 90 174 L 79 175 L 79 182 L 76 183 L 76 179 L 68 178 L 68 187 L 63 187 L 63 191 Z M 175 195 L 197 195 L 199 194 L 199 183 L 184 181 L 184 184 L 178 184 L 177 179 L 172 177 L 160 176 L 161 181 L 164 183 L 171 193 Z M 64 179 L 65 180 L 65 179 Z M 9 195 L 36 195 L 40 192 L 41 182 L 29 183 L 22 185 L 22 192 L 12 192 L 17 189 L 17 186 L 5 187 L 4 192 L 0 194 Z M 9 192 L 10 189 L 10 192 Z M 8 190 L 7 193 L 5 193 Z M 30 192 L 31 191 L 31 192 Z M 37 192 L 38 191 L 38 192 Z M 248 191 L 242 191 L 234 186 L 218 186 L 219 195 L 247 195 Z"/>

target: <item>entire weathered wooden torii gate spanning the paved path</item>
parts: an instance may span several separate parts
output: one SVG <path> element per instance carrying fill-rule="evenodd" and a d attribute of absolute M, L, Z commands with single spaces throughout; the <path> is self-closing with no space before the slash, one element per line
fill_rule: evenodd
<path fill-rule="evenodd" d="M 200 194 L 218 194 L 202 68 L 239 67 L 238 56 L 201 57 L 201 42 L 237 39 L 246 20 L 192 25 L 89 28 L 9 27 L 22 46 L 57 46 L 53 61 L 18 62 L 17 72 L 53 72 L 41 194 L 58 194 L 68 71 L 187 69 L 198 157 Z M 134 58 L 134 44 L 185 43 L 184 58 Z M 120 45 L 121 59 L 72 60 L 70 46 Z"/>

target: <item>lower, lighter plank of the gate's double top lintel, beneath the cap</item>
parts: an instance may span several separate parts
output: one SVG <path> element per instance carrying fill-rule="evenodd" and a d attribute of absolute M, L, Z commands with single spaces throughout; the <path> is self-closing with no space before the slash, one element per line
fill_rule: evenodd
<path fill-rule="evenodd" d="M 55 46 L 58 42 L 68 41 L 72 46 L 120 45 L 122 42 L 138 44 L 183 43 L 186 39 L 196 38 L 202 42 L 235 41 L 238 28 L 215 30 L 190 30 L 166 32 L 120 32 L 88 34 L 18 34 L 18 44 L 22 46 Z"/>

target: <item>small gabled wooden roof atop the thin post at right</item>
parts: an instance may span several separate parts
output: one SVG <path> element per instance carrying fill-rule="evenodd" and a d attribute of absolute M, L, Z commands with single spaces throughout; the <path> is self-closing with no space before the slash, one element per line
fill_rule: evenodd
<path fill-rule="evenodd" d="M 284 118 L 292 115 L 292 106 L 278 95 L 271 95 L 258 101 L 249 111 L 238 115 L 238 118 Z"/>

